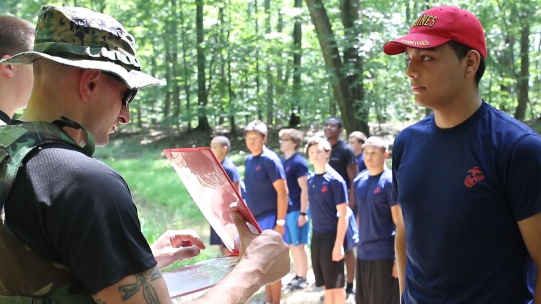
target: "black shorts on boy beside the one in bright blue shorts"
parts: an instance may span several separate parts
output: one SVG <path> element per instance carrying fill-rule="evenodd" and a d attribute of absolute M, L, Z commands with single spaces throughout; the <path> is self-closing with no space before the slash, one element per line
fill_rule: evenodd
<path fill-rule="evenodd" d="M 325 289 L 344 288 L 344 259 L 333 262 L 333 247 L 336 232 L 314 233 L 312 236 L 312 268 L 315 286 Z"/>

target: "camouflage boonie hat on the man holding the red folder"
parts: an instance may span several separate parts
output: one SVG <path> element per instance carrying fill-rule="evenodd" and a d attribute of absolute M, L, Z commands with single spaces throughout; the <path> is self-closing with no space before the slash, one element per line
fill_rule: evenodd
<path fill-rule="evenodd" d="M 86 8 L 43 6 L 38 13 L 34 50 L 0 63 L 30 64 L 37 58 L 110 72 L 130 89 L 166 84 L 141 71 L 135 56 L 135 39 L 122 24 L 109 15 Z"/>

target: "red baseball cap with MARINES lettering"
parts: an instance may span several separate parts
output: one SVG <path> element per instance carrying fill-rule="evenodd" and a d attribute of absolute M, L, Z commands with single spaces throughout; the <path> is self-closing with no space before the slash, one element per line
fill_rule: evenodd
<path fill-rule="evenodd" d="M 471 12 L 456 6 L 436 6 L 424 11 L 406 36 L 386 42 L 383 51 L 387 55 L 397 55 L 405 52 L 407 47 L 435 48 L 451 40 L 478 51 L 486 58 L 483 25 Z"/>

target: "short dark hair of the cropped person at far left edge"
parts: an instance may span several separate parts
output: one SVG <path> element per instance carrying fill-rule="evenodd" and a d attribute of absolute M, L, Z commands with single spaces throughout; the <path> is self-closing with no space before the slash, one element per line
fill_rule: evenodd
<path fill-rule="evenodd" d="M 34 33 L 32 23 L 14 16 L 0 16 L 0 57 L 31 51 Z"/>

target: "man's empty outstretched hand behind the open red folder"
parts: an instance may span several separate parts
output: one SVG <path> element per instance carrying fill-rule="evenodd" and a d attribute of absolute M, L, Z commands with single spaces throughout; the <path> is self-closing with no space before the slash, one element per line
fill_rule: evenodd
<path fill-rule="evenodd" d="M 150 245 L 157 267 L 162 269 L 178 260 L 194 257 L 204 249 L 201 238 L 194 230 L 167 230 Z"/>

